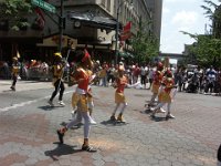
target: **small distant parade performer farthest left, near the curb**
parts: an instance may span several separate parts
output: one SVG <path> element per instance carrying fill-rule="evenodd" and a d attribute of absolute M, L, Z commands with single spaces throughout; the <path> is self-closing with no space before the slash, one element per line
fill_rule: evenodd
<path fill-rule="evenodd" d="M 13 58 L 12 59 L 12 70 L 11 70 L 11 74 L 12 74 L 12 85 L 11 85 L 11 90 L 15 91 L 15 84 L 17 84 L 17 80 L 18 80 L 18 75 L 20 72 L 20 64 L 18 61 L 18 58 Z"/>

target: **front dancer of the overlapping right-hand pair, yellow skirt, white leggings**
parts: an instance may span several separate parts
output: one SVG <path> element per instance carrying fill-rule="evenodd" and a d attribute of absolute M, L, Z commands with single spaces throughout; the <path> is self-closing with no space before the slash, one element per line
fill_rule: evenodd
<path fill-rule="evenodd" d="M 175 91 L 172 91 L 175 90 Z M 175 86 L 175 81 L 172 77 L 172 73 L 171 71 L 167 70 L 165 72 L 165 77 L 162 80 L 160 90 L 159 90 L 159 94 L 158 94 L 158 100 L 159 103 L 157 104 L 157 106 L 151 107 L 151 116 L 155 117 L 155 114 L 157 113 L 157 111 L 162 107 L 165 104 L 167 104 L 167 115 L 166 118 L 175 118 L 175 116 L 170 113 L 170 108 L 171 108 L 171 101 L 176 95 L 176 90 L 177 87 Z"/>

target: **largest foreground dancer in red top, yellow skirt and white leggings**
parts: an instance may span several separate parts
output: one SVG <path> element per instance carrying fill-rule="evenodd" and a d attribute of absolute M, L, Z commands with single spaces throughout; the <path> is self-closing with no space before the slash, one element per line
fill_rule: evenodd
<path fill-rule="evenodd" d="M 91 116 L 87 106 L 88 95 L 88 84 L 90 84 L 90 75 L 88 68 L 91 69 L 92 61 L 91 55 L 86 50 L 76 50 L 74 55 L 74 61 L 78 63 L 78 68 L 72 74 L 74 81 L 77 84 L 76 92 L 72 96 L 72 105 L 76 106 L 76 118 L 73 118 L 66 126 L 57 129 L 57 136 L 60 143 L 63 144 L 64 134 L 74 125 L 82 122 L 82 117 L 84 118 L 84 143 L 82 145 L 82 151 L 87 152 L 96 152 L 90 145 L 88 136 L 91 129 Z"/>

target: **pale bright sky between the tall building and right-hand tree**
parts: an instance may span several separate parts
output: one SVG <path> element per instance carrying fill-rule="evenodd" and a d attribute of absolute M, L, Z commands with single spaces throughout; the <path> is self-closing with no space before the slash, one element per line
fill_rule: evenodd
<path fill-rule="evenodd" d="M 212 0 L 219 4 L 218 0 Z M 203 0 L 162 0 L 162 22 L 160 51 L 162 53 L 182 53 L 185 44 L 194 42 L 186 31 L 193 34 L 204 34 L 206 24 L 211 24 L 201 6 Z M 209 30 L 209 25 L 207 25 Z"/>

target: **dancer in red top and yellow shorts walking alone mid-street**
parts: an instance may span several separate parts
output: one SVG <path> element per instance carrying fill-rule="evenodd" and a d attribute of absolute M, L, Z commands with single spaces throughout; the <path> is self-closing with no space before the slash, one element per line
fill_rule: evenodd
<path fill-rule="evenodd" d="M 127 106 L 127 102 L 126 102 L 126 98 L 125 98 L 125 94 L 124 94 L 124 90 L 125 90 L 125 86 L 128 84 L 128 80 L 127 77 L 124 75 L 124 66 L 123 65 L 119 65 L 118 68 L 118 76 L 116 77 L 115 80 L 115 83 L 114 83 L 114 87 L 116 87 L 116 91 L 115 91 L 115 103 L 116 103 L 116 107 L 110 116 L 110 121 L 119 121 L 119 122 L 124 122 L 124 118 L 123 118 L 123 113 L 124 113 L 124 110 L 126 108 Z M 117 112 L 117 110 L 119 108 L 120 104 L 123 104 L 123 107 L 117 116 L 117 118 L 115 117 L 115 114 Z"/>

